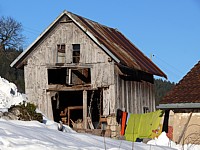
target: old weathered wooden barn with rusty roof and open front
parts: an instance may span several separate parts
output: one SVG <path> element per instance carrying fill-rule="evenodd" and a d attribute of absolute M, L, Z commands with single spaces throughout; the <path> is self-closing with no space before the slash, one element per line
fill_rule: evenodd
<path fill-rule="evenodd" d="M 67 11 L 11 67 L 24 69 L 28 99 L 49 118 L 59 121 L 70 108 L 68 116 L 85 128 L 87 116 L 95 122 L 117 109 L 154 111 L 153 75 L 166 78 L 117 29 Z"/>

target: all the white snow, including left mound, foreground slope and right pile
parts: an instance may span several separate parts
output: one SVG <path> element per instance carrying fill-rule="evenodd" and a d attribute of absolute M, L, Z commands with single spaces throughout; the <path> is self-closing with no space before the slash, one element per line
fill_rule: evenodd
<path fill-rule="evenodd" d="M 2 110 L 24 100 L 13 83 L 0 77 Z M 76 133 L 68 126 L 61 132 L 59 124 L 44 119 L 45 123 L 0 119 L 0 150 L 200 150 L 199 145 L 176 145 L 164 132 L 158 139 L 144 144 Z"/>

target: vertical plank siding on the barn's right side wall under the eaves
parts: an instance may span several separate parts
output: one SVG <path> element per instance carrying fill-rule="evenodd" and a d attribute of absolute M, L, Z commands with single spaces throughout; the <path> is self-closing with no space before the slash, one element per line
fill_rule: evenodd
<path fill-rule="evenodd" d="M 125 81 L 115 73 L 115 106 L 130 113 L 144 113 L 143 107 L 155 110 L 154 86 L 146 81 Z"/>

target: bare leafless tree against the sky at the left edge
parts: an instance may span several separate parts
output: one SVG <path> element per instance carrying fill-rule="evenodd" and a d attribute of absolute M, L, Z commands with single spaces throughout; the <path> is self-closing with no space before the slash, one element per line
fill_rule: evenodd
<path fill-rule="evenodd" d="M 24 41 L 22 25 L 11 17 L 0 17 L 0 50 L 16 48 Z"/>

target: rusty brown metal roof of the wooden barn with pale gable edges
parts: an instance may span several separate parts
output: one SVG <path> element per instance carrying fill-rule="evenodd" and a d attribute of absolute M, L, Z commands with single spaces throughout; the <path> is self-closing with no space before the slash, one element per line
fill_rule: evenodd
<path fill-rule="evenodd" d="M 119 65 L 130 69 L 137 69 L 153 75 L 167 78 L 148 57 L 146 57 L 134 44 L 132 44 L 121 32 L 114 28 L 101 25 L 92 20 L 86 19 L 71 12 L 64 11 L 36 41 L 19 56 L 12 64 L 12 67 L 20 68 L 22 61 L 26 59 L 32 47 L 53 28 L 61 17 L 67 15 L 81 28 L 90 38 L 95 41 L 111 58 L 114 58 Z"/>

